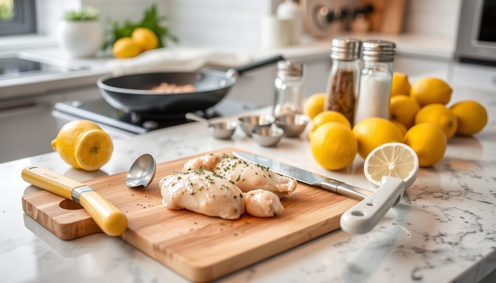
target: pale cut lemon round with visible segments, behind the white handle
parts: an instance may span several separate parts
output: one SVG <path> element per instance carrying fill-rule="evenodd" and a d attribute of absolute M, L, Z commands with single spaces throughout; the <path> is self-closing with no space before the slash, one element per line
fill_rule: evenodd
<path fill-rule="evenodd" d="M 365 159 L 367 180 L 380 186 L 383 176 L 403 179 L 405 188 L 413 184 L 419 172 L 419 158 L 406 144 L 391 142 L 376 147 Z"/>

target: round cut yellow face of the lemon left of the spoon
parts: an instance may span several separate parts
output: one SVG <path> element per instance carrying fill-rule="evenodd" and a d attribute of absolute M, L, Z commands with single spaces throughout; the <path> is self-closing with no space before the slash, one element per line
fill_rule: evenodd
<path fill-rule="evenodd" d="M 98 170 L 109 161 L 113 149 L 109 134 L 99 129 L 86 131 L 76 143 L 77 165 L 88 171 Z"/>

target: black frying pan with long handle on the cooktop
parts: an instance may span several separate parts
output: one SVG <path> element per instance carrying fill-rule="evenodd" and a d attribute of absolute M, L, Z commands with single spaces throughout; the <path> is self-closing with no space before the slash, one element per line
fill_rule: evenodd
<path fill-rule="evenodd" d="M 113 107 L 126 113 L 178 114 L 210 108 L 219 103 L 236 83 L 237 75 L 284 60 L 282 56 L 253 62 L 228 72 L 204 70 L 197 72 L 161 72 L 106 76 L 97 81 L 103 98 Z M 152 91 L 162 82 L 192 84 L 195 92 L 163 93 Z"/>

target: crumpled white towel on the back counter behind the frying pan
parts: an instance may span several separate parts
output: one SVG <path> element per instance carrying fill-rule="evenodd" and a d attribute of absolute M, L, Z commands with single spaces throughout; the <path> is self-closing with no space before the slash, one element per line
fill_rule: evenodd
<path fill-rule="evenodd" d="M 166 47 L 144 52 L 134 58 L 109 60 L 106 66 L 114 76 L 120 76 L 131 73 L 195 71 L 206 65 L 229 68 L 245 65 L 251 61 L 251 56 L 241 53 Z"/>

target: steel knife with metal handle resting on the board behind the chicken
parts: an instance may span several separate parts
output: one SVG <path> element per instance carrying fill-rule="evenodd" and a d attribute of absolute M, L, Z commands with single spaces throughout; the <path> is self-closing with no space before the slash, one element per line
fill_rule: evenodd
<path fill-rule="evenodd" d="M 320 186 L 321 188 L 334 193 L 346 195 L 360 200 L 365 199 L 368 195 L 372 193 L 369 190 L 365 190 L 339 180 L 328 178 L 262 156 L 253 155 L 246 152 L 239 152 L 239 151 L 233 152 L 233 155 L 243 160 L 246 160 L 250 163 L 258 164 L 263 167 L 268 167 L 270 168 L 270 170 L 279 173 L 281 175 L 285 175 L 297 179 L 300 182 L 307 183 L 312 186 Z"/>

